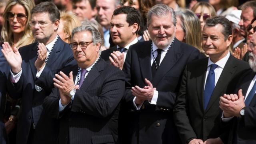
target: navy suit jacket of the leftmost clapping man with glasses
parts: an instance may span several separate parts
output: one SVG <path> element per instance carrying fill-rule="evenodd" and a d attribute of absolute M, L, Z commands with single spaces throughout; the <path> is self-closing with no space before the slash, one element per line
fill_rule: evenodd
<path fill-rule="evenodd" d="M 19 51 L 22 56 L 22 75 L 16 84 L 8 80 L 10 91 L 17 92 L 17 95 L 10 96 L 22 98 L 22 113 L 18 120 L 16 141 L 18 144 L 26 144 L 33 120 L 36 126 L 36 143 L 54 144 L 58 135 L 58 123 L 45 114 L 42 104 L 54 87 L 54 74 L 62 68 L 76 65 L 72 50 L 67 43 L 58 38 L 39 78 L 36 78 L 37 70 L 34 66 L 37 59 L 37 43 L 24 46 Z M 42 87 L 42 91 L 37 92 L 35 84 Z"/>

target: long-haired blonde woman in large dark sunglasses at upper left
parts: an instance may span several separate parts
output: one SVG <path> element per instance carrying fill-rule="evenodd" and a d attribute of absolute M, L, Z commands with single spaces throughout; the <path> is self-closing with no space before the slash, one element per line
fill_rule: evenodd
<path fill-rule="evenodd" d="M 31 44 L 34 41 L 28 22 L 33 0 L 9 0 L 4 10 L 4 24 L 1 32 L 2 42 L 9 42 L 14 47 Z"/>

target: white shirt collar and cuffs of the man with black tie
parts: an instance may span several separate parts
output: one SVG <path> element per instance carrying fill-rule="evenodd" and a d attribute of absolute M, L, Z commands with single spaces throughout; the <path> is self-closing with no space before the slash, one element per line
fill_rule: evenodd
<path fill-rule="evenodd" d="M 165 57 L 169 47 L 170 47 L 170 44 L 162 49 L 159 66 L 160 66 L 161 62 L 163 61 L 163 59 L 164 59 L 164 57 Z M 154 44 L 154 42 L 152 44 L 152 48 L 153 48 L 154 57 L 156 58 L 157 57 L 157 49 L 158 49 L 158 47 L 156 46 L 156 44 Z M 151 66 L 152 66 L 152 64 L 154 62 L 154 57 L 153 57 L 152 52 L 150 52 L 150 64 L 151 64 Z M 137 106 L 136 103 L 135 103 L 135 98 L 136 97 L 133 98 L 133 105 L 136 108 L 136 110 L 139 110 L 143 103 Z M 157 99 L 158 99 L 158 91 L 154 90 L 153 97 L 151 99 L 151 102 L 149 102 L 149 103 L 156 105 Z"/>

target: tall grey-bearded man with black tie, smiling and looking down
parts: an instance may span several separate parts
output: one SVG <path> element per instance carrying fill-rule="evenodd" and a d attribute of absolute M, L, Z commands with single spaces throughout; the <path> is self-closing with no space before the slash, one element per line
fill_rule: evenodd
<path fill-rule="evenodd" d="M 121 143 L 177 144 L 180 140 L 172 109 L 182 72 L 200 52 L 174 37 L 176 16 L 172 8 L 157 4 L 147 19 L 152 41 L 132 45 L 124 63 Z"/>

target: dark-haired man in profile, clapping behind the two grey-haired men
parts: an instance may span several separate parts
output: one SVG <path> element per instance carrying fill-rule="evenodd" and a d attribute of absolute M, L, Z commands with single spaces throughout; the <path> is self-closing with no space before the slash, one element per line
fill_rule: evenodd
<path fill-rule="evenodd" d="M 122 70 L 129 47 L 138 42 L 139 26 L 140 12 L 135 8 L 122 6 L 114 10 L 110 22 L 110 36 L 117 46 L 102 51 L 102 58 Z"/>

